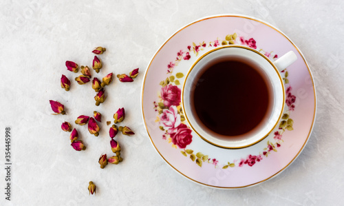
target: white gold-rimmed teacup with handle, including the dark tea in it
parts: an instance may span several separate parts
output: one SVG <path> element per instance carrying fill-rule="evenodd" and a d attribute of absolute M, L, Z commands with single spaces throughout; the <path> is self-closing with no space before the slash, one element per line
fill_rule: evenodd
<path fill-rule="evenodd" d="M 241 45 L 206 52 L 182 88 L 186 121 L 204 141 L 219 147 L 258 143 L 281 119 L 286 92 L 280 72 L 296 60 L 290 51 L 272 62 Z"/>

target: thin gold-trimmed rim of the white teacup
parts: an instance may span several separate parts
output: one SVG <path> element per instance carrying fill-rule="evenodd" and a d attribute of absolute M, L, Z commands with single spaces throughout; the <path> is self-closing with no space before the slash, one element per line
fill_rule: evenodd
<path fill-rule="evenodd" d="M 278 76 L 279 76 L 279 81 L 281 82 L 281 85 L 282 85 L 282 89 L 283 89 L 283 101 L 282 101 L 282 109 L 281 109 L 281 113 L 279 114 L 279 119 L 277 119 L 275 125 L 272 127 L 272 129 L 268 132 L 268 134 L 265 134 L 263 137 L 261 137 L 259 140 L 255 141 L 254 143 L 251 143 L 249 145 L 244 145 L 244 146 L 241 146 L 241 147 L 226 147 L 224 145 L 217 145 L 216 143 L 213 143 L 212 141 L 209 141 L 208 139 L 204 138 L 204 136 L 202 136 L 200 133 L 198 133 L 195 128 L 193 127 L 193 125 L 191 125 L 189 119 L 188 119 L 188 116 L 186 115 L 186 112 L 184 110 L 184 87 L 185 87 L 185 84 L 186 84 L 186 79 L 188 78 L 190 72 L 193 70 L 193 68 L 195 67 L 195 65 L 201 61 L 201 59 L 204 58 L 204 56 L 210 54 L 211 52 L 215 52 L 217 50 L 221 50 L 221 49 L 224 49 L 224 48 L 244 48 L 246 50 L 250 50 L 252 52 L 255 52 L 257 54 L 259 54 L 260 56 L 263 56 L 264 59 L 266 59 L 270 65 L 272 65 L 272 67 L 275 69 L 275 71 L 277 72 Z M 182 87 L 182 109 L 184 111 L 184 116 L 185 116 L 185 119 L 186 121 L 189 123 L 190 127 L 193 129 L 193 132 L 195 132 L 198 136 L 200 136 L 200 138 L 202 138 L 204 141 L 206 141 L 207 143 L 211 143 L 212 145 L 214 146 L 217 146 L 217 147 L 222 147 L 222 148 L 225 148 L 225 149 L 241 149 L 241 148 L 244 148 L 244 147 L 250 147 L 252 145 L 255 145 L 257 143 L 259 143 L 260 141 L 262 141 L 264 138 L 266 138 L 271 132 L 272 130 L 275 129 L 275 127 L 277 126 L 277 124 L 279 123 L 279 121 L 281 120 L 281 117 L 282 117 L 282 114 L 283 114 L 283 111 L 284 111 L 284 105 L 286 103 L 286 90 L 284 88 L 284 84 L 283 84 L 283 80 L 282 80 L 282 77 L 281 77 L 281 74 L 279 73 L 279 70 L 277 70 L 276 66 L 272 63 L 272 61 L 270 61 L 270 59 L 268 59 L 268 57 L 266 57 L 264 54 L 261 54 L 260 52 L 258 52 L 257 50 L 254 50 L 252 48 L 248 48 L 246 46 L 242 46 L 242 45 L 225 45 L 225 46 L 222 46 L 222 47 L 219 47 L 219 48 L 215 48 L 213 50 L 210 50 L 208 52 L 206 52 L 205 54 L 203 54 L 202 56 L 200 56 L 200 58 L 197 59 L 197 61 L 195 61 L 195 63 L 193 63 L 193 65 L 191 66 L 189 72 L 186 74 L 185 76 L 185 81 L 184 81 L 184 84 L 183 84 L 183 87 Z"/>

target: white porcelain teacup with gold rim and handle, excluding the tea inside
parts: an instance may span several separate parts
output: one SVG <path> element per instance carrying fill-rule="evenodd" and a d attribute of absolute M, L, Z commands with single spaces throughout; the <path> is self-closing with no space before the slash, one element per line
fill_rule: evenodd
<path fill-rule="evenodd" d="M 195 87 L 197 87 L 197 79 L 200 78 L 200 75 L 204 73 L 204 70 L 207 70 L 208 65 L 220 61 L 221 59 L 239 59 L 244 63 L 255 65 L 255 68 L 259 70 L 261 74 L 264 74 L 267 80 L 266 83 L 269 84 L 270 88 L 271 103 L 264 119 L 261 119 L 259 125 L 249 132 L 237 136 L 229 136 L 230 138 L 210 130 L 204 125 L 204 123 L 202 123 L 202 121 L 200 121 L 194 108 L 194 105 L 197 103 L 193 102 L 192 96 Z M 191 67 L 191 70 L 189 70 L 189 73 L 186 75 L 186 80 L 182 89 L 182 107 L 186 121 L 189 122 L 193 130 L 202 139 L 204 139 L 204 141 L 219 147 L 234 149 L 248 147 L 258 143 L 266 138 L 266 136 L 268 136 L 275 127 L 277 127 L 277 124 L 281 119 L 284 103 L 286 101 L 286 92 L 280 72 L 296 60 L 296 54 L 290 51 L 272 63 L 272 61 L 264 56 L 264 54 L 241 45 L 226 45 L 207 52 L 197 59 Z M 221 88 L 214 89 L 221 90 Z M 224 91 L 224 94 L 225 92 L 226 91 Z M 213 108 L 209 108 L 209 110 L 220 112 L 218 105 L 214 105 Z"/>

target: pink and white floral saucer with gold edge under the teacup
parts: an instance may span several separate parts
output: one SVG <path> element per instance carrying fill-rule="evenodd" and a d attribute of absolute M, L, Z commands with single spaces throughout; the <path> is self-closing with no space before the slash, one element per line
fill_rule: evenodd
<path fill-rule="evenodd" d="M 224 149 L 192 130 L 181 102 L 185 76 L 209 50 L 244 45 L 271 61 L 292 50 L 297 61 L 281 72 L 286 104 L 278 127 L 259 143 Z M 226 81 L 225 76 L 219 80 Z M 217 188 L 257 185 L 281 173 L 305 147 L 316 115 L 312 73 L 299 48 L 269 23 L 243 15 L 206 17 L 184 26 L 155 53 L 142 83 L 142 116 L 155 150 L 173 169 L 195 183 Z M 220 103 L 212 108 L 218 112 Z"/>

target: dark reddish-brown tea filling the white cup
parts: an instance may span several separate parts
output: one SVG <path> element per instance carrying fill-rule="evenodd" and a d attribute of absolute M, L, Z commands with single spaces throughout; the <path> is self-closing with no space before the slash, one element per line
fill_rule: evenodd
<path fill-rule="evenodd" d="M 268 112 L 270 92 L 263 74 L 241 61 L 224 60 L 195 80 L 191 103 L 209 130 L 237 136 L 255 129 Z"/>

